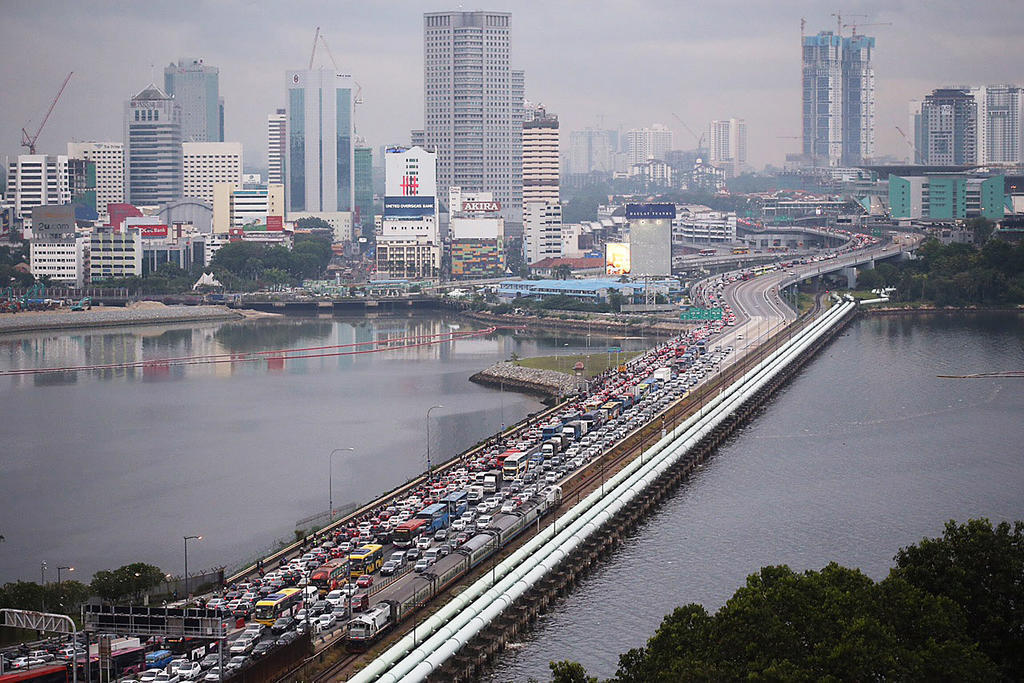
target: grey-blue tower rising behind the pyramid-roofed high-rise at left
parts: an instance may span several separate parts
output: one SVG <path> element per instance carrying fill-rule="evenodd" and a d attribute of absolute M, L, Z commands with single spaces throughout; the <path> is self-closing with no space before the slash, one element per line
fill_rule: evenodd
<path fill-rule="evenodd" d="M 181 108 L 183 141 L 224 141 L 224 99 L 219 79 L 219 69 L 194 57 L 181 57 L 178 63 L 164 69 L 164 91 Z"/>

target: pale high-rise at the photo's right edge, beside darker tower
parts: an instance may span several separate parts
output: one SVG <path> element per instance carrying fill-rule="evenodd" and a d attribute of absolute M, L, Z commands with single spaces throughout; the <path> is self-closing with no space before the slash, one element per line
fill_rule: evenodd
<path fill-rule="evenodd" d="M 978 105 L 978 163 L 1024 163 L 1024 90 L 983 85 L 971 92 Z"/>

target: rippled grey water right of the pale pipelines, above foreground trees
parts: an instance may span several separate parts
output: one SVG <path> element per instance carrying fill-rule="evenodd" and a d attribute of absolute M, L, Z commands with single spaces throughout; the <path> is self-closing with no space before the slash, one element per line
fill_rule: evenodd
<path fill-rule="evenodd" d="M 1024 379 L 936 377 L 1022 369 L 1024 316 L 858 319 L 488 679 L 565 658 L 609 677 L 673 607 L 717 610 L 762 566 L 881 580 L 949 519 L 1024 519 Z"/>

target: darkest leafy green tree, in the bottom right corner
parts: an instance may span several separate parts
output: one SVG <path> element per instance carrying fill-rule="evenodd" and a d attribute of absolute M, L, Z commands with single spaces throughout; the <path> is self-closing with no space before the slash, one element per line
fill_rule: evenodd
<path fill-rule="evenodd" d="M 900 549 L 892 574 L 959 605 L 1004 677 L 1024 677 L 1024 522 L 949 521 L 941 539 Z"/>

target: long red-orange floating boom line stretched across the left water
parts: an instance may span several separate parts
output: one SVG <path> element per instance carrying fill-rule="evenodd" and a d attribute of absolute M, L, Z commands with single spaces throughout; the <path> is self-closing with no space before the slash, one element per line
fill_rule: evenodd
<path fill-rule="evenodd" d="M 469 332 L 442 332 L 433 335 L 417 335 L 412 337 L 393 337 L 388 339 L 378 339 L 366 342 L 353 342 L 350 344 L 332 344 L 326 346 L 307 346 L 299 348 L 284 348 L 268 351 L 248 351 L 245 353 L 211 353 L 201 355 L 173 356 L 168 358 L 148 358 L 145 360 L 130 360 L 126 362 L 111 362 L 94 366 L 67 366 L 60 368 L 26 368 L 15 370 L 0 370 L 0 377 L 19 375 L 41 375 L 44 373 L 72 373 L 88 372 L 97 370 L 128 370 L 133 368 L 153 368 L 167 366 L 199 366 L 212 365 L 218 362 L 252 362 L 255 360 L 298 360 L 302 358 L 326 358 L 339 355 L 357 355 L 362 353 L 379 353 L 381 351 L 394 351 L 420 346 L 430 346 L 443 342 L 466 339 L 471 337 L 483 337 L 493 334 L 498 328 L 490 327 L 483 330 Z M 395 342 L 403 342 L 394 345 Z M 374 348 L 357 348 L 362 346 L 373 346 Z M 355 350 L 329 350 L 329 349 L 355 349 Z M 308 351 L 328 351 L 325 353 L 308 353 Z M 293 355 L 300 353 L 301 355 Z"/>

